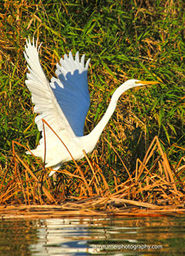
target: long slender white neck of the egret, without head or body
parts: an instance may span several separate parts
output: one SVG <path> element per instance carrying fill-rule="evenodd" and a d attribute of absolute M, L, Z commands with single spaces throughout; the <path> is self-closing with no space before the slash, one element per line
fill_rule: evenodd
<path fill-rule="evenodd" d="M 103 129 L 105 128 L 107 122 L 109 122 L 110 117 L 112 116 L 113 112 L 115 111 L 117 100 L 122 95 L 123 92 L 125 92 L 127 89 L 129 89 L 131 86 L 129 84 L 125 84 L 124 87 L 122 85 L 117 88 L 112 94 L 112 98 L 110 100 L 110 104 L 107 108 L 107 111 L 105 112 L 105 115 L 102 117 L 100 122 L 97 124 L 97 126 L 93 129 L 92 132 L 88 135 L 90 139 L 93 140 L 93 144 L 97 143 L 97 140 L 99 139 L 100 135 L 102 134 Z"/>

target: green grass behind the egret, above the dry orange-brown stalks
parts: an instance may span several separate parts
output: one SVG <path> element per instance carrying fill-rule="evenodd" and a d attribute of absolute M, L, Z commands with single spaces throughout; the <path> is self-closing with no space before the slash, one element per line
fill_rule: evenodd
<path fill-rule="evenodd" d="M 184 1 L 3 1 L 0 10 L 0 162 L 3 174 L 12 140 L 31 149 L 39 141 L 31 94 L 24 83 L 23 49 L 28 36 L 39 36 L 41 62 L 49 79 L 56 62 L 72 50 L 91 58 L 88 81 L 91 107 L 85 125 L 100 121 L 112 92 L 127 79 L 159 80 L 159 85 L 129 90 L 97 144 L 98 154 L 118 173 L 143 158 L 155 135 L 172 164 L 184 141 Z M 34 164 L 24 149 L 18 154 Z M 106 171 L 106 170 L 105 170 Z"/>

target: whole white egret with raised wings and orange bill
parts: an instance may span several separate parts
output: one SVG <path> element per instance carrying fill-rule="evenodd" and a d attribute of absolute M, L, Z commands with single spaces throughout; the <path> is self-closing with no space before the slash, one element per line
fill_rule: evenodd
<path fill-rule="evenodd" d="M 85 54 L 83 54 L 81 60 L 78 51 L 75 54 L 75 59 L 73 59 L 71 52 L 69 52 L 69 56 L 65 54 L 64 59 L 60 59 L 61 66 L 56 64 L 56 76 L 58 78 L 52 77 L 51 82 L 48 82 L 38 57 L 40 46 L 38 47 L 38 40 L 35 44 L 33 38 L 33 44 L 31 44 L 30 39 L 28 39 L 24 52 L 29 72 L 27 73 L 26 86 L 32 94 L 31 99 L 35 104 L 34 112 L 39 113 L 35 122 L 38 130 L 42 132 L 40 144 L 31 152 L 36 157 L 44 159 L 46 147 L 46 167 L 53 167 L 53 170 L 57 170 L 63 162 L 71 160 L 70 154 L 74 159 L 81 159 L 84 157 L 83 149 L 87 154 L 93 151 L 102 130 L 115 111 L 117 100 L 123 92 L 133 87 L 156 84 L 157 82 L 131 79 L 120 85 L 112 94 L 105 115 L 93 131 L 84 136 L 85 117 L 90 107 L 88 91 L 88 64 L 90 59 L 85 64 Z M 60 139 L 56 137 L 56 134 L 47 126 L 45 126 L 45 145 L 42 119 L 50 124 L 64 142 L 70 154 Z M 30 152 L 26 153 L 30 154 Z M 51 171 L 50 175 L 54 172 Z"/>

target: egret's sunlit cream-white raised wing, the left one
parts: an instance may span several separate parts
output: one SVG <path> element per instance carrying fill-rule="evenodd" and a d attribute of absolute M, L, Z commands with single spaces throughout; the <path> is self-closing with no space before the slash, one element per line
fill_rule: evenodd
<path fill-rule="evenodd" d="M 53 90 L 41 67 L 38 58 L 40 46 L 37 47 L 37 42 L 36 45 L 34 44 L 34 39 L 33 44 L 31 44 L 30 39 L 28 39 L 24 52 L 29 71 L 29 73 L 27 73 L 26 85 L 31 92 L 32 102 L 35 104 L 34 112 L 40 114 L 35 119 L 38 130 L 43 131 L 42 119 L 45 119 L 56 132 L 62 132 L 65 129 L 65 134 L 74 136 L 73 129 L 71 129 L 62 109 L 60 109 L 57 99 L 53 94 Z M 49 131 L 47 127 L 46 131 Z M 43 139 L 41 139 L 40 143 L 42 142 Z"/>

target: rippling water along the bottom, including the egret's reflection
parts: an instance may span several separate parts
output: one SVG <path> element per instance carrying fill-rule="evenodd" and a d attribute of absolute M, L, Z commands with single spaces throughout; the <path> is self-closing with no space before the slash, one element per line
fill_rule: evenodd
<path fill-rule="evenodd" d="M 0 220 L 0 237 L 1 256 L 185 255 L 185 216 Z"/>

